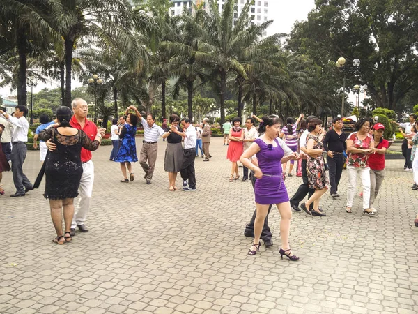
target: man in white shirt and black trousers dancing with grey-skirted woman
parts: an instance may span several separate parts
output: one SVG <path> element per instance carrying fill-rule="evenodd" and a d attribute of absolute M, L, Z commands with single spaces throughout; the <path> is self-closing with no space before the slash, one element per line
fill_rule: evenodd
<path fill-rule="evenodd" d="M 196 130 L 191 124 L 189 118 L 181 119 L 180 123 L 184 132 L 178 132 L 175 127 L 171 126 L 170 131 L 181 137 L 184 141 L 184 158 L 183 165 L 180 168 L 180 175 L 183 178 L 183 190 L 185 192 L 194 192 L 196 190 L 196 177 L 194 174 L 194 158 L 196 158 Z M 187 184 L 189 187 L 187 187 Z"/>

